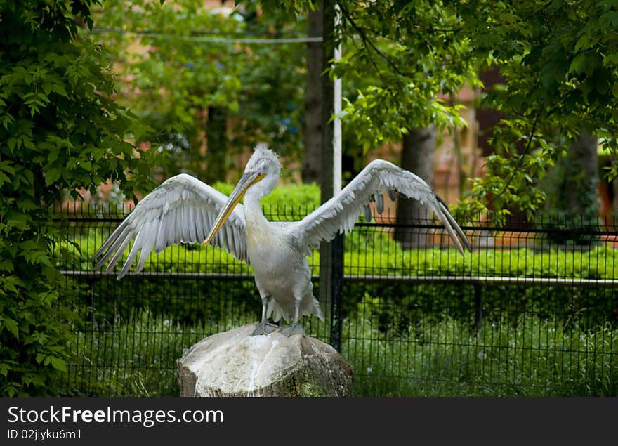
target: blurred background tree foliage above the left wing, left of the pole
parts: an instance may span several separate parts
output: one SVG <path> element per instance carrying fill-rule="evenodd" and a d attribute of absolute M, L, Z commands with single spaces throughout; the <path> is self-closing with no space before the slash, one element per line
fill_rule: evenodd
<path fill-rule="evenodd" d="M 228 147 L 208 150 L 237 153 L 263 141 L 298 155 L 305 47 L 268 41 L 303 34 L 302 19 L 256 15 L 252 4 L 242 13 L 205 8 L 201 0 L 131 4 L 105 1 L 96 38 L 114 52 L 119 99 L 153 129 L 145 138 L 162 147 L 169 135 L 186 138 L 186 147 L 176 147 L 186 162 L 168 175 L 183 169 L 209 178 L 201 149 L 211 107 L 223 110 L 231 131 Z"/>

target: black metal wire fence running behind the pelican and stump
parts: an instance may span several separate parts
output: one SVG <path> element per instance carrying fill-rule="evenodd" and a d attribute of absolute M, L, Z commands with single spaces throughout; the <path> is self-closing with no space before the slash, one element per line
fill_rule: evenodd
<path fill-rule="evenodd" d="M 270 217 L 305 214 L 281 211 Z M 197 245 L 152 255 L 122 280 L 92 270 L 122 218 L 96 209 L 58 216 L 70 236 L 58 262 L 76 291 L 66 304 L 80 321 L 66 393 L 178 395 L 183 349 L 259 319 L 253 276 L 225 251 Z M 341 317 L 302 322 L 326 342 L 341 333 L 355 394 L 617 396 L 618 228 L 548 220 L 464 230 L 473 244 L 465 258 L 433 221 L 383 218 L 346 235 L 343 299 L 325 308 Z M 316 296 L 319 263 L 316 252 Z"/>

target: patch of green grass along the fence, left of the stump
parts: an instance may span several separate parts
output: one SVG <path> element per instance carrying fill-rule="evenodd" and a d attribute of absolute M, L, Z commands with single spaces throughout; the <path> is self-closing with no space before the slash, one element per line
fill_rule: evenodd
<path fill-rule="evenodd" d="M 164 316 L 138 310 L 126 322 L 77 332 L 64 388 L 70 395 L 178 395 L 176 359 L 206 327 L 180 327 Z"/>

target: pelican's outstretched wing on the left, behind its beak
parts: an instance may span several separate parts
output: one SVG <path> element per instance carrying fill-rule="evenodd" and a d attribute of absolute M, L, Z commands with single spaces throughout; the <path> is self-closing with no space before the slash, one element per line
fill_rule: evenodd
<path fill-rule="evenodd" d="M 100 259 L 94 268 L 100 268 L 111 257 L 106 269 L 112 270 L 133 237 L 135 242 L 119 279 L 129 271 L 138 251 L 141 252 L 136 271 L 141 271 L 153 247 L 158 254 L 172 244 L 202 242 L 227 200 L 228 197 L 221 192 L 185 173 L 167 179 L 137 204 L 96 251 L 94 258 Z M 248 263 L 241 204 L 236 206 L 211 244 L 220 248 L 225 246 L 235 258 Z"/>

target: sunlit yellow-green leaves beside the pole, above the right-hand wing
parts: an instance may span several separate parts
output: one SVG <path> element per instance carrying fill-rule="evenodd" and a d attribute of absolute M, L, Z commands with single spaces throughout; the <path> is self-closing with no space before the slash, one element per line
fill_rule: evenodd
<path fill-rule="evenodd" d="M 447 103 L 462 86 L 480 86 L 470 39 L 456 36 L 458 17 L 441 1 L 341 1 L 345 44 L 334 74 L 356 87 L 343 118 L 364 150 L 408 129 L 465 125 Z"/>

